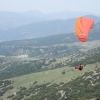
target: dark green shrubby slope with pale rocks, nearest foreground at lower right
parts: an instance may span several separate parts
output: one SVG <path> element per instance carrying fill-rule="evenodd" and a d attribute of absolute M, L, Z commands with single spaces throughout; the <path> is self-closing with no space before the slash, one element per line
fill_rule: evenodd
<path fill-rule="evenodd" d="M 68 83 L 43 84 L 31 87 L 32 92 L 37 94 L 26 97 L 25 100 L 100 100 L 100 67 L 95 71 L 85 73 L 81 77 L 76 78 Z M 23 93 L 20 90 L 21 93 Z M 28 91 L 28 93 L 31 93 Z M 19 94 L 18 94 L 19 95 Z"/>

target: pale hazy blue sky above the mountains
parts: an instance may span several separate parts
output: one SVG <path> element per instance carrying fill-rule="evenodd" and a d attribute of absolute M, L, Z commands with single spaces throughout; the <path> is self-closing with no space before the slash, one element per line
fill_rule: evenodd
<path fill-rule="evenodd" d="M 100 14 L 100 0 L 0 0 L 0 11 L 43 13 L 82 11 Z"/>

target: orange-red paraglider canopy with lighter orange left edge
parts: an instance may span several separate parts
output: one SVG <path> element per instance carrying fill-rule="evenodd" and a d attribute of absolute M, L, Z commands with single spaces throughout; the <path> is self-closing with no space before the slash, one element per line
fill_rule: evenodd
<path fill-rule="evenodd" d="M 89 32 L 94 27 L 94 20 L 86 17 L 79 17 L 76 20 L 76 35 L 81 42 L 88 40 Z"/>

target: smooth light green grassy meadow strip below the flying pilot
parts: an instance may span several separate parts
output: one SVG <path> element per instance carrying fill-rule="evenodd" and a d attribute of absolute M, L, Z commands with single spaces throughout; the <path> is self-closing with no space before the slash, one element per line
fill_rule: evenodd
<path fill-rule="evenodd" d="M 38 84 L 43 84 L 47 82 L 54 82 L 54 83 L 69 82 L 71 81 L 72 78 L 78 77 L 78 75 L 83 75 L 85 72 L 93 71 L 95 66 L 96 64 L 87 65 L 83 71 L 75 70 L 74 67 L 65 66 L 63 68 L 57 68 L 54 70 L 48 70 L 44 72 L 15 77 L 10 80 L 13 80 L 13 81 L 19 80 L 19 81 L 16 81 L 14 84 L 16 88 L 18 86 L 27 87 L 30 83 L 35 82 L 35 81 L 37 81 Z M 64 75 L 62 74 L 63 71 L 65 71 Z"/>

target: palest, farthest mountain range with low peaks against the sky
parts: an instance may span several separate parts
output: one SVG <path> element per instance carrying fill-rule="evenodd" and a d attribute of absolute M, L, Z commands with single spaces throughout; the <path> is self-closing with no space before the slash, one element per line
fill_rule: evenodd
<path fill-rule="evenodd" d="M 53 13 L 44 14 L 37 10 L 22 12 L 21 14 L 26 15 L 26 16 L 34 16 L 37 18 L 45 18 L 45 19 L 47 18 L 47 19 L 51 19 L 51 20 L 55 20 L 55 19 L 66 20 L 66 19 L 75 18 L 75 17 L 79 17 L 79 16 L 85 16 L 85 15 L 97 15 L 94 13 L 75 12 L 75 11 L 61 11 L 61 12 L 53 12 Z"/>

